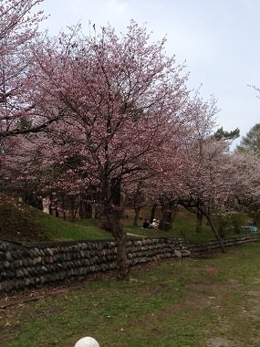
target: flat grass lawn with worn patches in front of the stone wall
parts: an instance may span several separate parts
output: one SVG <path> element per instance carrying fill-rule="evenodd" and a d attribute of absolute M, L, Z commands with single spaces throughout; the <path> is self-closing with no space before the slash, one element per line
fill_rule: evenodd
<path fill-rule="evenodd" d="M 0 310 L 0 346 L 73 347 L 83 336 L 100 347 L 259 346 L 259 254 L 251 244 L 133 269 L 130 282 L 39 290 L 29 303 L 20 295 Z"/>

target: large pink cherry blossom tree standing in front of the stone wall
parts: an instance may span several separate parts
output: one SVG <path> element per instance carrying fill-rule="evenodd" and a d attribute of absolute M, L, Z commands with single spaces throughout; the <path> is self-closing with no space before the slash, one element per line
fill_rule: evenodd
<path fill-rule="evenodd" d="M 37 137 L 45 149 L 42 163 L 67 168 L 66 182 L 56 184 L 71 190 L 89 182 L 99 187 L 117 241 L 118 279 L 129 276 L 127 237 L 120 226 L 124 183 L 148 172 L 153 155 L 162 155 L 189 118 L 183 112 L 186 76 L 164 46 L 164 39 L 151 43 L 146 29 L 131 22 L 120 36 L 110 26 L 88 37 L 72 28 L 59 45 L 34 53 L 38 105 L 47 116 L 62 114 Z"/>

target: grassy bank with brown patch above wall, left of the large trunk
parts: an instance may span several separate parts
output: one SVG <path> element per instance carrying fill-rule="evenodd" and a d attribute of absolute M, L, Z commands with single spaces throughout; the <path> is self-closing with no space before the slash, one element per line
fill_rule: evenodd
<path fill-rule="evenodd" d="M 48 216 L 29 205 L 0 195 L 0 238 L 20 242 L 111 238 L 96 221 L 88 226 Z"/>

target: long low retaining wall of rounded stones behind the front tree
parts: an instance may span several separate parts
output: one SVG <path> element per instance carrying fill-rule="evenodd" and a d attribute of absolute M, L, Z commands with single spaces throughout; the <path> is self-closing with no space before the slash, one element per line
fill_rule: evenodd
<path fill-rule="evenodd" d="M 259 237 L 224 240 L 225 246 L 260 241 Z M 219 248 L 217 241 L 206 246 L 187 244 L 181 238 L 151 238 L 128 241 L 130 267 L 162 258 L 174 258 L 175 250 L 198 253 Z M 0 295 L 49 282 L 85 277 L 116 269 L 114 241 L 59 242 L 30 247 L 0 241 Z"/>

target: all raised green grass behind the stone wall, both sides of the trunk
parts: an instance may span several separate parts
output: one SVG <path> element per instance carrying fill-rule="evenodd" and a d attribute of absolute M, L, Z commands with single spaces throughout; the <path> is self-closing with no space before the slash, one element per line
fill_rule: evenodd
<path fill-rule="evenodd" d="M 113 238 L 109 232 L 99 227 L 99 221 L 96 219 L 70 223 L 55 216 L 46 215 L 42 211 L 19 203 L 14 199 L 9 198 L 5 201 L 6 199 L 5 195 L 0 195 L 0 238 L 26 243 Z M 129 237 L 184 237 L 195 243 L 206 243 L 215 238 L 210 226 L 204 220 L 202 232 L 196 233 L 196 216 L 183 209 L 179 209 L 174 218 L 172 229 L 169 231 L 142 227 L 144 218 L 150 217 L 148 206 L 143 208 L 139 226 L 132 225 L 133 210 L 126 209 L 125 215 L 128 217 L 123 218 L 121 222 Z M 160 217 L 158 210 L 156 218 Z M 235 218 L 238 225 L 246 224 L 247 216 L 237 214 Z M 237 235 L 229 231 L 226 236 L 236 237 Z"/>

